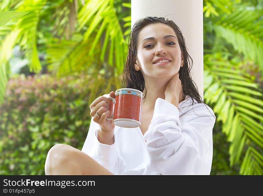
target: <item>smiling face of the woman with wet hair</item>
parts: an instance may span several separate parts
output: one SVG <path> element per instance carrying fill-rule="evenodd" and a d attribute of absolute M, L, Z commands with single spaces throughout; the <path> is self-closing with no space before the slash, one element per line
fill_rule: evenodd
<path fill-rule="evenodd" d="M 169 62 L 158 62 L 165 59 Z M 141 70 L 143 77 L 171 78 L 178 73 L 183 63 L 183 54 L 178 38 L 166 24 L 149 24 L 140 30 L 137 40 L 136 70 Z"/>

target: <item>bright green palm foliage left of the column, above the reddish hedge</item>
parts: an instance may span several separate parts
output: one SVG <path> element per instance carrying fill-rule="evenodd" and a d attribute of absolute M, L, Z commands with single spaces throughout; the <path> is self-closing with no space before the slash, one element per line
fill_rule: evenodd
<path fill-rule="evenodd" d="M 105 78 L 118 78 L 127 55 L 130 1 L 16 1 L 4 0 L 1 10 L 27 11 L 27 15 L 0 29 L 0 104 L 9 77 L 12 49 L 19 44 L 31 72 L 40 72 L 44 53 L 48 71 L 57 76 L 90 70 Z M 124 32 L 124 33 L 123 33 Z"/>

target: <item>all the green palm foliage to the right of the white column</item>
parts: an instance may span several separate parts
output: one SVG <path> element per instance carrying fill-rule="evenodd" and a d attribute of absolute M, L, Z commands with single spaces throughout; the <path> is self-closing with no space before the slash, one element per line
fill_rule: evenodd
<path fill-rule="evenodd" d="M 241 175 L 263 174 L 262 13 L 257 2 L 204 1 L 204 100 L 221 122 L 227 161 Z M 213 160 L 212 168 L 225 163 Z"/>

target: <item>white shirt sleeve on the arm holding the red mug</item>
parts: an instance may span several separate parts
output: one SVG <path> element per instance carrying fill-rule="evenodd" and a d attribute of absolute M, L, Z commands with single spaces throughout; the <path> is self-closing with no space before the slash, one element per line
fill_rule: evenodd
<path fill-rule="evenodd" d="M 126 164 L 118 155 L 116 143 L 114 142 L 112 145 L 100 143 L 98 141 L 98 131 L 99 125 L 93 121 L 93 118 L 91 118 L 88 135 L 81 151 L 96 160 L 111 173 L 115 175 L 122 174 L 126 168 Z"/>

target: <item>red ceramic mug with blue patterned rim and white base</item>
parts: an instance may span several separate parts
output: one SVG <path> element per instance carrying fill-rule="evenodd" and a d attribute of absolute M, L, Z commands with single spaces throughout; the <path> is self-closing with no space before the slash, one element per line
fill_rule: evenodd
<path fill-rule="evenodd" d="M 143 104 L 143 93 L 137 89 L 117 89 L 115 98 L 109 94 L 103 95 L 114 103 L 113 115 L 107 120 L 113 120 L 117 126 L 135 128 L 141 124 L 141 113 Z"/>

